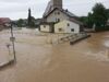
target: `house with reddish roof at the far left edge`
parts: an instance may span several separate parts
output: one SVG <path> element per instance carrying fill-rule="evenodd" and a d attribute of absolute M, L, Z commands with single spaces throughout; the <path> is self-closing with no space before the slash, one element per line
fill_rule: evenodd
<path fill-rule="evenodd" d="M 0 30 L 8 28 L 10 22 L 9 17 L 0 17 Z"/>

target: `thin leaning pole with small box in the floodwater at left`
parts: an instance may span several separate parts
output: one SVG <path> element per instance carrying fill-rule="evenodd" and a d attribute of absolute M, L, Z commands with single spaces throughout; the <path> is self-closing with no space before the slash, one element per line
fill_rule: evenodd
<path fill-rule="evenodd" d="M 15 37 L 13 36 L 12 23 L 10 24 L 10 27 L 11 27 L 11 37 L 10 37 L 10 40 L 12 42 L 12 48 L 13 48 L 13 55 L 14 55 L 14 62 L 16 62 L 15 45 L 14 45 Z"/>

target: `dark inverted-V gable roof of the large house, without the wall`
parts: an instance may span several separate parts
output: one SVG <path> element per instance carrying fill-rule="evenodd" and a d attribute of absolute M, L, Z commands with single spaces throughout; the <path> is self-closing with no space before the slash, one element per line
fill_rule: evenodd
<path fill-rule="evenodd" d="M 71 12 L 68 11 L 68 10 L 55 8 L 53 10 L 51 10 L 51 11 L 49 11 L 47 14 L 45 14 L 44 17 L 49 16 L 55 10 L 59 10 L 59 11 L 61 11 L 62 13 L 64 13 L 65 15 L 68 15 L 68 16 L 70 16 L 70 17 L 76 16 L 75 14 L 71 13 Z"/>

